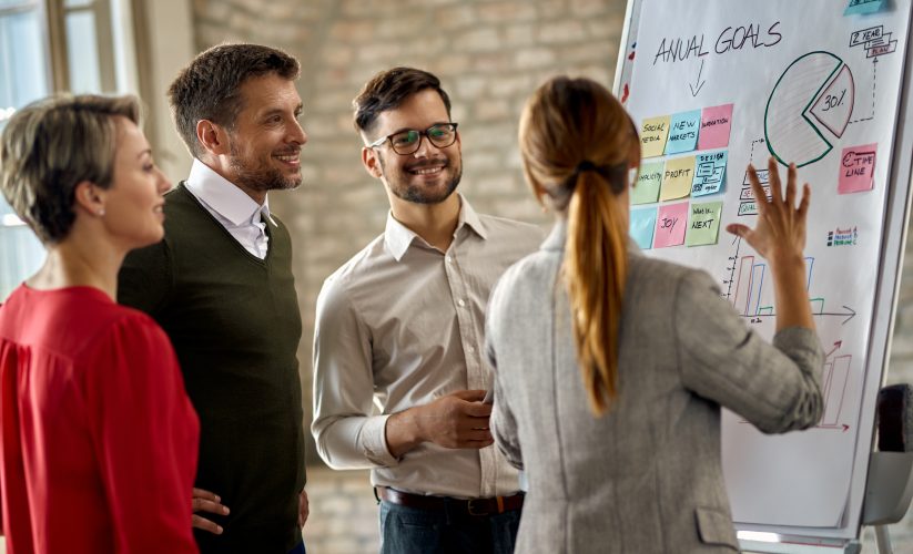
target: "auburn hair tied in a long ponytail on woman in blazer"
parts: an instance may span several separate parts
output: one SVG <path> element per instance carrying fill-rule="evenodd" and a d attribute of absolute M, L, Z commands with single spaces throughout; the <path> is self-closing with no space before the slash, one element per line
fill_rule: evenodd
<path fill-rule="evenodd" d="M 619 331 L 628 273 L 628 168 L 640 141 L 621 103 L 595 81 L 554 78 L 520 117 L 524 174 L 567 219 L 561 278 L 590 409 L 605 414 L 619 391 Z M 560 315 L 556 315 L 560 317 Z"/>

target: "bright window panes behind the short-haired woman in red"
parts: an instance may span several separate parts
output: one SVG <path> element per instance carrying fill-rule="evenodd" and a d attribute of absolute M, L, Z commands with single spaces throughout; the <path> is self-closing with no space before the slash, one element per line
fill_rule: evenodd
<path fill-rule="evenodd" d="M 0 130 L 16 109 L 51 91 L 135 90 L 130 0 L 0 0 Z M 118 44 L 119 48 L 114 48 Z M 0 197 L 0 301 L 44 259 Z"/>

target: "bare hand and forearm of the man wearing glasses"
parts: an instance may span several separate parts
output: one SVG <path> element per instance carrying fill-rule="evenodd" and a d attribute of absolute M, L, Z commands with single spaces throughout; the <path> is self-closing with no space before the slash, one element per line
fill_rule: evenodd
<path fill-rule="evenodd" d="M 495 442 L 488 430 L 491 404 L 484 390 L 458 390 L 387 420 L 387 448 L 400 456 L 423 442 L 448 449 L 483 449 Z"/>

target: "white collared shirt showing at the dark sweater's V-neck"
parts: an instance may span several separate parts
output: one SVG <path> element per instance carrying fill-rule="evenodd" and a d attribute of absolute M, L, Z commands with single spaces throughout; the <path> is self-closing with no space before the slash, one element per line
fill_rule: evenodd
<path fill-rule="evenodd" d="M 266 257 L 270 237 L 264 220 L 268 218 L 275 225 L 270 215 L 268 199 L 261 206 L 199 160 L 193 161 L 184 186 L 245 250 L 260 259 Z"/>

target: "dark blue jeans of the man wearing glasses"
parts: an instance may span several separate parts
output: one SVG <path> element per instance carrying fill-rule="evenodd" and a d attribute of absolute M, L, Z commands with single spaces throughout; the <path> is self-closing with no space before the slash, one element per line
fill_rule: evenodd
<path fill-rule="evenodd" d="M 485 516 L 381 502 L 381 554 L 511 554 L 520 511 Z"/>

